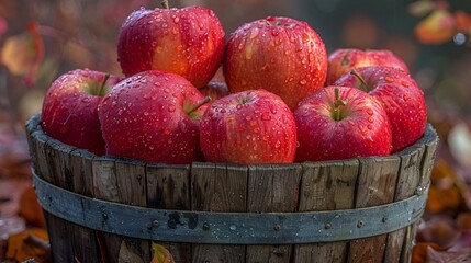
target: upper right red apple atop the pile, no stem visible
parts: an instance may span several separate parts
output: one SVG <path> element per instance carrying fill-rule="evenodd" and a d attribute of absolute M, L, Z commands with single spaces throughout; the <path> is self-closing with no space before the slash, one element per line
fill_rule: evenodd
<path fill-rule="evenodd" d="M 223 71 L 232 93 L 265 89 L 294 108 L 301 99 L 323 87 L 327 52 L 307 23 L 269 16 L 231 35 Z"/>

